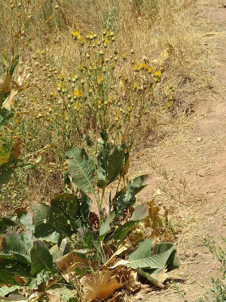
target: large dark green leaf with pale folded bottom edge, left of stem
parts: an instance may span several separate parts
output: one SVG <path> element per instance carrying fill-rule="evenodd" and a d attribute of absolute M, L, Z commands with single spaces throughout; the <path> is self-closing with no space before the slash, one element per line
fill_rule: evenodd
<path fill-rule="evenodd" d="M 59 238 L 70 237 L 71 227 L 67 218 L 54 206 L 33 203 L 30 207 L 35 226 L 34 236 L 58 243 Z"/>

